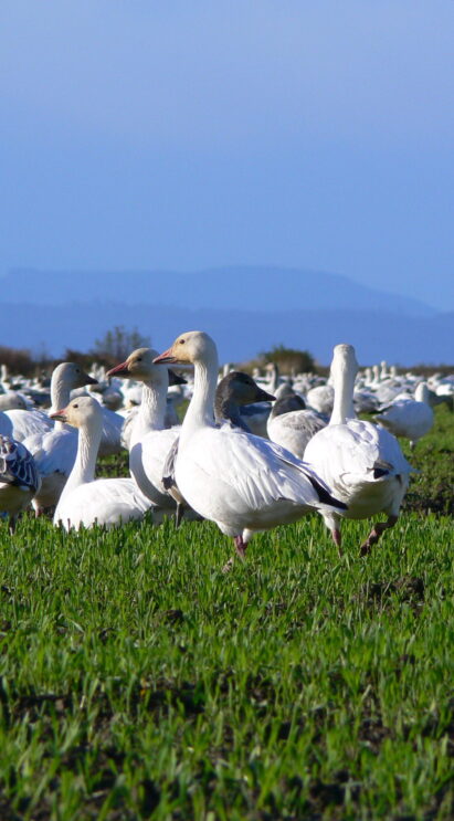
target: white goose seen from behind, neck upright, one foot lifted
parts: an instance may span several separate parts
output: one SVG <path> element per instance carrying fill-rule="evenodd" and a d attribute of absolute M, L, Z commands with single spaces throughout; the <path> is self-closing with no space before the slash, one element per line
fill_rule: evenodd
<path fill-rule="evenodd" d="M 381 512 L 388 514 L 388 520 L 377 523 L 361 546 L 361 554 L 366 554 L 382 531 L 398 520 L 412 469 L 391 433 L 355 418 L 352 398 L 357 371 L 355 348 L 337 345 L 331 364 L 335 386 L 331 419 L 329 425 L 309 441 L 304 457 L 332 487 L 332 493 L 347 504 L 344 512 L 323 512 L 338 547 L 340 516 L 362 519 Z"/>

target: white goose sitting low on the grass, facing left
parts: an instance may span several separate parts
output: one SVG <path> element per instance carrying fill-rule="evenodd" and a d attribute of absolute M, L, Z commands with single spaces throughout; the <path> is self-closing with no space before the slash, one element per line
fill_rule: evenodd
<path fill-rule="evenodd" d="M 141 519 L 149 502 L 130 478 L 95 480 L 96 457 L 103 433 L 103 410 L 93 397 L 72 399 L 52 414 L 78 428 L 77 455 L 54 514 L 54 524 L 66 530 L 81 526 L 113 527 Z"/>

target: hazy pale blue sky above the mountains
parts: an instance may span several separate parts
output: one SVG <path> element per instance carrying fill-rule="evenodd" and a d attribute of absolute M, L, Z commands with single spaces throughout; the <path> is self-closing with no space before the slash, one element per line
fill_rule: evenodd
<path fill-rule="evenodd" d="M 2 0 L 0 272 L 285 264 L 454 309 L 453 43 L 453 0 Z"/>

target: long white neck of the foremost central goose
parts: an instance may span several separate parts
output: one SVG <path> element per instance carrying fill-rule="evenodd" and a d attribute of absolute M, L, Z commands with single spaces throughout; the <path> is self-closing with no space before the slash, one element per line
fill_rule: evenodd
<path fill-rule="evenodd" d="M 205 362 L 194 364 L 194 388 L 181 428 L 179 450 L 184 448 L 196 431 L 214 428 L 214 396 L 218 383 L 218 355 Z"/>

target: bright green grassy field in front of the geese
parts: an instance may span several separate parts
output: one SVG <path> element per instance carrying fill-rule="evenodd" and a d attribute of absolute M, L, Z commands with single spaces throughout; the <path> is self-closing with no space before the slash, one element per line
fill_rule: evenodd
<path fill-rule="evenodd" d="M 0 526 L 0 819 L 452 819 L 454 418 L 367 559 L 321 519 Z M 106 472 L 116 470 L 110 462 Z"/>

